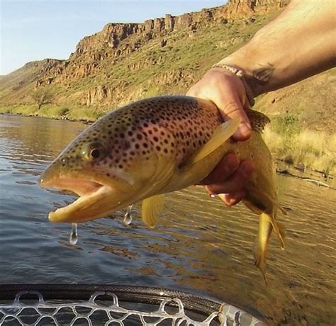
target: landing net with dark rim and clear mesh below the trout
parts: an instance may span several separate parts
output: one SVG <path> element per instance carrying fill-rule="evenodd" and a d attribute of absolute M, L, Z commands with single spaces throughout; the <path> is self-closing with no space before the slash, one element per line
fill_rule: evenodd
<path fill-rule="evenodd" d="M 233 305 L 140 286 L 0 286 L 0 325 L 264 325 Z"/>

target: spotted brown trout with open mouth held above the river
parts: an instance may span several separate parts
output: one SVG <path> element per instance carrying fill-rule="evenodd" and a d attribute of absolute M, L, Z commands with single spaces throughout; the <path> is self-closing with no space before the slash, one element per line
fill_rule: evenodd
<path fill-rule="evenodd" d="M 242 202 L 259 215 L 254 261 L 265 278 L 269 237 L 274 230 L 284 249 L 284 227 L 276 220 L 275 169 L 262 140 L 269 118 L 246 112 L 252 135 L 245 142 L 231 137 L 240 118 L 224 121 L 212 101 L 191 96 L 142 99 L 107 113 L 70 142 L 40 177 L 43 188 L 79 196 L 50 212 L 49 220 L 84 223 L 142 201 L 142 220 L 155 227 L 166 193 L 198 184 L 233 152 L 254 162 Z"/>

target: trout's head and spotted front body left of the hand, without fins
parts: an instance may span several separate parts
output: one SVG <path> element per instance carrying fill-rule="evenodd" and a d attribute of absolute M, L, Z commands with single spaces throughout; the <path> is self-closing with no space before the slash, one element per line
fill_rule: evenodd
<path fill-rule="evenodd" d="M 75 202 L 80 207 L 61 208 L 49 219 L 84 222 L 195 184 L 211 172 L 219 154 L 207 161 L 206 172 L 194 169 L 196 174 L 183 179 L 179 167 L 221 123 L 214 103 L 189 96 L 158 96 L 111 111 L 77 136 L 43 173 L 40 186 L 81 196 Z M 88 201 L 86 195 L 97 189 L 104 200 L 91 196 Z"/>

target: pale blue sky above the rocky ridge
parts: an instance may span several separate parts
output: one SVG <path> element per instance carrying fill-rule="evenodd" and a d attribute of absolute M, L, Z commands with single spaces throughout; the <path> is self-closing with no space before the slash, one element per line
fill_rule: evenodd
<path fill-rule="evenodd" d="M 0 75 L 46 57 L 67 59 L 106 23 L 142 23 L 225 0 L 0 0 Z"/>

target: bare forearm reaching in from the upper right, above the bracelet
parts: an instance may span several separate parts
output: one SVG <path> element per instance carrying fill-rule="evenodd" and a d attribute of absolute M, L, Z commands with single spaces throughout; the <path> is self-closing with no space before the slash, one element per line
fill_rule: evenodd
<path fill-rule="evenodd" d="M 220 64 L 245 72 L 254 96 L 336 65 L 336 3 L 294 0 L 274 21 Z"/>

